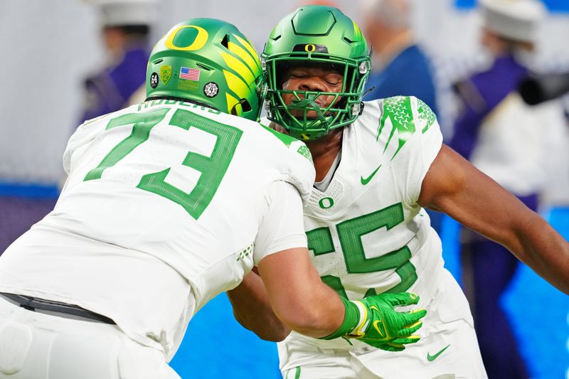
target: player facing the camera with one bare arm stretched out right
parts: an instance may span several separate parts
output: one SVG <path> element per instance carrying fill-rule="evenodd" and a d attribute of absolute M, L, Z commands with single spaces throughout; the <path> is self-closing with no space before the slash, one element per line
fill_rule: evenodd
<path fill-rule="evenodd" d="M 304 228 L 322 281 L 347 299 L 415 292 L 427 316 L 421 340 L 400 348 L 271 333 L 269 312 L 244 316 L 266 309 L 253 304 L 261 294 L 245 297 L 262 292 L 252 272 L 230 293 L 240 322 L 265 338 L 286 337 L 279 343 L 285 378 L 485 378 L 467 300 L 443 267 L 424 208 L 500 242 L 564 292 L 569 244 L 442 144 L 435 114 L 421 100 L 361 103 L 368 48 L 338 9 L 305 6 L 283 18 L 261 62 L 269 119 L 307 142 L 314 159 Z"/>

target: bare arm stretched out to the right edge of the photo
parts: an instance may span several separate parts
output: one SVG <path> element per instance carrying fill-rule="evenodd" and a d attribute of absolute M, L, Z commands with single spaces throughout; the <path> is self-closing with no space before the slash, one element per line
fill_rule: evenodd
<path fill-rule="evenodd" d="M 450 174 L 452 173 L 452 174 Z M 569 294 L 569 243 L 540 215 L 443 145 L 422 182 L 419 204 L 507 247 Z"/>

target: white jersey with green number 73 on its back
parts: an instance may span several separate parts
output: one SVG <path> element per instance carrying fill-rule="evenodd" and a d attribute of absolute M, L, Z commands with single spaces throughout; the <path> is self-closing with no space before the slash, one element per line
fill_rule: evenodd
<path fill-rule="evenodd" d="M 209 299 L 307 244 L 298 194 L 314 183 L 310 153 L 247 119 L 144 102 L 81 125 L 64 166 L 55 209 L 2 255 L 0 292 L 104 314 L 167 358 Z M 279 209 L 265 225 L 273 199 L 297 220 Z"/>

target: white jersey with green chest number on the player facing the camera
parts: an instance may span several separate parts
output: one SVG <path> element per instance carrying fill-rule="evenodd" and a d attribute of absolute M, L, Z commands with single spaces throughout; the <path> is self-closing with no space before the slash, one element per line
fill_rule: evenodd
<path fill-rule="evenodd" d="M 415 97 L 366 102 L 356 122 L 344 128 L 331 183 L 324 192 L 312 188 L 304 208 L 312 262 L 336 292 L 349 299 L 406 291 L 421 301 L 432 297 L 442 247 L 418 198 L 441 146 L 435 114 Z M 321 348 L 365 346 L 293 331 L 280 343 L 281 354 L 287 341 Z"/>

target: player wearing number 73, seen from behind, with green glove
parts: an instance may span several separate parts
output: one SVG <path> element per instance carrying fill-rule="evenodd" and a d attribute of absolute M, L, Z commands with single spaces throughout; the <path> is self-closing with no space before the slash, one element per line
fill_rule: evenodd
<path fill-rule="evenodd" d="M 179 378 L 188 321 L 254 265 L 287 328 L 418 341 L 425 311 L 394 309 L 418 297 L 348 301 L 319 279 L 302 225 L 314 166 L 254 122 L 261 78 L 235 26 L 194 18 L 156 44 L 146 102 L 77 129 L 55 209 L 0 257 L 0 378 Z"/>

